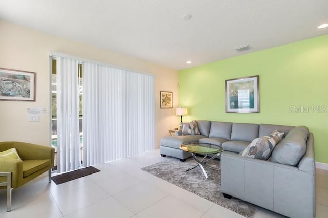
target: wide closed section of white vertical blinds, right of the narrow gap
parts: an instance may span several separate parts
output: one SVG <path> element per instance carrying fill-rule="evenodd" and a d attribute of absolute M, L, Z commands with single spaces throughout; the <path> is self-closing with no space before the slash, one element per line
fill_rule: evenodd
<path fill-rule="evenodd" d="M 83 62 L 83 166 L 154 149 L 154 77 Z"/>

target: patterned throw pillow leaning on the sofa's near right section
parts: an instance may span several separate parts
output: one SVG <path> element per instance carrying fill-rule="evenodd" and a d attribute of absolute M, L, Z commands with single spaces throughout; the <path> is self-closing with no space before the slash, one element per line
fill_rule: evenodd
<path fill-rule="evenodd" d="M 268 160 L 273 148 L 281 141 L 283 135 L 284 133 L 274 130 L 269 136 L 256 138 L 245 148 L 241 156 Z"/>

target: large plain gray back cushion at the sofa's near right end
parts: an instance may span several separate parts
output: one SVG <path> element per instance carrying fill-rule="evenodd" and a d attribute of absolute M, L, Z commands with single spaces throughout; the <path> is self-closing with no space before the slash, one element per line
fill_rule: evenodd
<path fill-rule="evenodd" d="M 296 166 L 306 152 L 309 129 L 299 126 L 291 129 L 286 137 L 275 147 L 271 162 Z"/>

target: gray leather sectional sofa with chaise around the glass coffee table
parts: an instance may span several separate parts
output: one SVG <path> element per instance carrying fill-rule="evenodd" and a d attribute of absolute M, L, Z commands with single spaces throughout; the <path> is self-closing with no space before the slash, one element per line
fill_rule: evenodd
<path fill-rule="evenodd" d="M 191 155 L 181 144 L 220 145 L 221 191 L 288 217 L 315 217 L 316 182 L 313 134 L 305 126 L 197 121 L 200 135 L 167 136 L 160 154 L 184 161 Z M 254 140 L 273 130 L 284 132 L 268 160 L 242 157 Z"/>

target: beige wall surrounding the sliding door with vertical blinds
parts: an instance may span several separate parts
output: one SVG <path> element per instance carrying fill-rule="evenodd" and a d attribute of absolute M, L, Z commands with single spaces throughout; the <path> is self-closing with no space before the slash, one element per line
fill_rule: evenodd
<path fill-rule="evenodd" d="M 36 101 L 0 101 L 0 141 L 25 141 L 50 145 L 50 62 L 51 51 L 114 64 L 156 76 L 156 147 L 168 130 L 177 127 L 177 71 L 139 58 L 99 49 L 86 43 L 49 35 L 0 21 L 0 68 L 36 73 Z M 173 109 L 160 109 L 159 92 L 173 92 Z M 40 122 L 28 122 L 28 107 L 46 107 Z"/>

